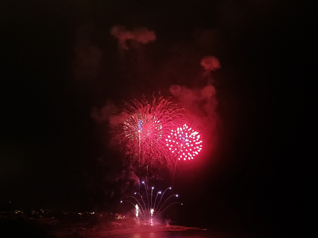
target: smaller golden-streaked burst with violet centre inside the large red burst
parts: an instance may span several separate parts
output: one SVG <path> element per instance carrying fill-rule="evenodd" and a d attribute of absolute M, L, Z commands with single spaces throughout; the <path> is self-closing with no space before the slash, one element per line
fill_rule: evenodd
<path fill-rule="evenodd" d="M 129 139 L 158 142 L 162 138 L 162 123 L 155 116 L 134 113 L 124 121 L 124 133 Z"/>

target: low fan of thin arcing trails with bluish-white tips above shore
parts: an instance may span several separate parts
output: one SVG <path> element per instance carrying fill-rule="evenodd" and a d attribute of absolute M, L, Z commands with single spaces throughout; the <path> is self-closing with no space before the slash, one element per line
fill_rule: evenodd
<path fill-rule="evenodd" d="M 153 193 L 154 187 L 151 187 L 151 192 L 146 183 L 143 181 L 144 190 L 141 193 L 135 192 L 135 196 L 128 196 L 127 200 L 122 200 L 122 202 L 129 202 L 132 204 L 136 211 L 136 217 L 141 219 L 147 219 L 150 216 L 150 223 L 152 225 L 153 217 L 158 218 L 162 212 L 164 212 L 171 205 L 181 202 L 170 202 L 173 197 L 178 197 L 177 194 L 173 194 L 170 196 L 164 196 L 167 190 L 171 190 L 171 187 L 167 188 L 163 193 L 158 191 L 157 194 Z M 154 194 L 156 194 L 156 198 L 154 198 Z M 158 195 L 160 196 L 160 200 L 157 199 Z M 162 200 L 163 198 L 163 200 Z M 159 200 L 159 202 L 157 202 Z"/>

